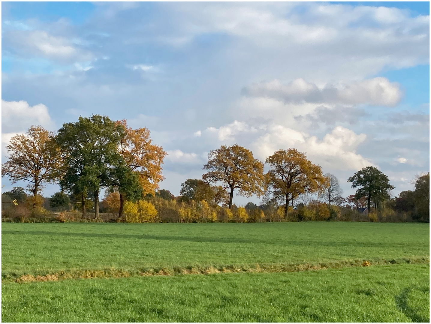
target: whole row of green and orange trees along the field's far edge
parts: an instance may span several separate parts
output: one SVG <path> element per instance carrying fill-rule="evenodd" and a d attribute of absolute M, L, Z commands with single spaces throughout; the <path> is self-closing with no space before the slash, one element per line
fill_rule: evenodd
<path fill-rule="evenodd" d="M 164 179 L 162 164 L 167 153 L 152 143 L 147 128 L 132 129 L 125 120 L 112 121 L 102 115 L 79 117 L 76 122 L 63 124 L 56 134 L 40 126 L 31 126 L 27 134 L 12 137 L 6 148 L 9 156 L 2 165 L 2 177 L 8 176 L 12 183 L 27 181 L 27 189 L 33 193 L 33 208 L 36 208 L 37 196 L 44 184 L 54 182 L 60 185 L 61 192 L 53 195 L 51 200 L 61 204 L 74 197 L 79 200 L 83 218 L 87 217 L 88 201 L 94 205 L 94 218 L 99 217 L 99 195 L 104 188 L 115 193 L 115 199 L 118 198 L 120 221 L 124 218 L 125 209 L 129 215 L 138 215 L 138 209 L 148 214 L 151 207 L 139 202 L 168 193 L 167 190 L 158 190 L 159 182 Z M 265 164 L 269 166 L 266 173 Z M 189 204 L 203 201 L 203 205 L 225 205 L 231 210 L 235 191 L 242 196 L 254 194 L 262 197 L 266 205 L 282 207 L 285 220 L 289 214 L 288 207 L 290 204 L 294 207 L 294 202 L 300 197 L 317 195 L 330 210 L 331 206 L 341 206 L 346 202 L 341 197 L 338 179 L 333 174 L 323 174 L 321 167 L 309 161 L 305 153 L 293 148 L 278 150 L 265 159 L 265 164 L 254 158 L 247 148 L 237 144 L 222 145 L 208 154 L 202 179 L 187 179 L 181 184 L 178 201 Z M 421 181 L 426 183 L 426 175 L 422 178 Z M 365 199 L 369 211 L 372 206 L 377 211 L 390 200 L 390 190 L 394 189 L 387 176 L 372 166 L 362 168 L 347 181 L 357 189 L 355 195 L 349 197 L 349 202 L 356 201 L 358 207 Z M 419 187 L 426 187 L 421 181 Z M 403 192 L 399 199 L 418 201 L 417 206 L 425 206 L 427 201 L 423 193 L 412 195 Z M 412 204 L 411 201 L 409 203 Z M 395 207 L 400 208 L 401 205 L 400 200 Z M 411 209 L 408 203 L 404 205 L 404 209 Z M 181 208 L 178 207 L 178 211 L 190 213 L 185 212 L 185 207 Z M 414 208 L 416 213 L 425 212 L 424 207 Z"/>

